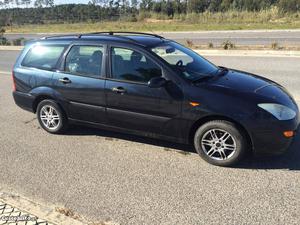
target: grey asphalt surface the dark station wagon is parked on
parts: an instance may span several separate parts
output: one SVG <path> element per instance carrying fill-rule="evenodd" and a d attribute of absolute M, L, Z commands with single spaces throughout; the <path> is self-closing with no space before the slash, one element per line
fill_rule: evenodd
<path fill-rule="evenodd" d="M 0 70 L 15 57 L 1 52 Z M 299 94 L 299 58 L 209 58 Z M 169 142 L 82 127 L 50 135 L 15 106 L 11 77 L 0 79 L 0 191 L 126 225 L 299 224 L 300 135 L 284 156 L 220 168 Z"/>

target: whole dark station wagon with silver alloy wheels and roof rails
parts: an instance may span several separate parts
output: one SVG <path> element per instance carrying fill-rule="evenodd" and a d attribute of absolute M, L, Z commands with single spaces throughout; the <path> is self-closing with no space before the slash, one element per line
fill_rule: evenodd
<path fill-rule="evenodd" d="M 13 69 L 18 106 L 50 133 L 80 123 L 195 146 L 214 165 L 279 154 L 299 124 L 279 84 L 218 67 L 146 33 L 100 32 L 28 43 Z"/>

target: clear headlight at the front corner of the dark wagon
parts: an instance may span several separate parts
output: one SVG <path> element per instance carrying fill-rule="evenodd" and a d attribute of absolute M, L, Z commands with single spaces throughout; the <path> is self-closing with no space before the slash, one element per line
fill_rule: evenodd
<path fill-rule="evenodd" d="M 296 116 L 296 112 L 284 105 L 273 104 L 273 103 L 262 103 L 258 106 L 267 112 L 271 113 L 278 120 L 291 120 Z"/>

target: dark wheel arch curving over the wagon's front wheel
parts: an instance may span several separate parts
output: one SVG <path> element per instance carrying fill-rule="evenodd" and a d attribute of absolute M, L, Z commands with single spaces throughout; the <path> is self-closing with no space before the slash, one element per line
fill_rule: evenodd
<path fill-rule="evenodd" d="M 209 121 L 213 121 L 213 120 L 225 120 L 225 121 L 234 123 L 238 127 L 238 129 L 244 133 L 250 149 L 253 150 L 253 140 L 251 138 L 251 135 L 249 134 L 249 131 L 241 123 L 237 122 L 236 120 L 234 120 L 230 117 L 227 117 L 227 116 L 220 116 L 220 115 L 210 115 L 210 116 L 206 116 L 206 117 L 203 117 L 203 118 L 200 118 L 199 120 L 197 120 L 192 125 L 192 127 L 189 131 L 189 140 L 188 140 L 189 143 L 193 143 L 194 135 L 199 127 L 201 127 L 203 124 L 205 124 Z"/>

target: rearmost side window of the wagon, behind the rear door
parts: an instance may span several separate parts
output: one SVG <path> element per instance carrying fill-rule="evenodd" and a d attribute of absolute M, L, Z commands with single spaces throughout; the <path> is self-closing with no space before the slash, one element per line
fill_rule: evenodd
<path fill-rule="evenodd" d="M 52 70 L 65 48 L 66 46 L 36 45 L 29 50 L 22 66 Z"/>

